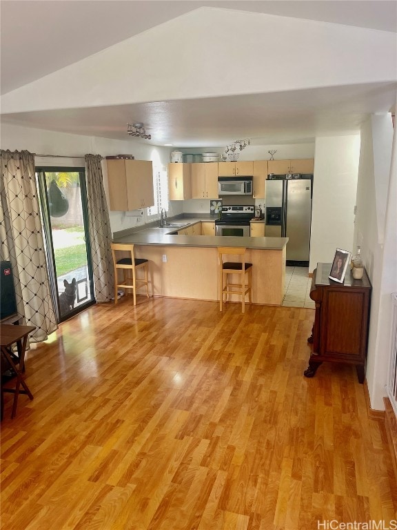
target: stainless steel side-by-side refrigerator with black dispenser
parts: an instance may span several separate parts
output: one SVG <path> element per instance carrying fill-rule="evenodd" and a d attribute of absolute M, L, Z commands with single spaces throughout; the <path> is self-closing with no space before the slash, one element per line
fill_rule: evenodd
<path fill-rule="evenodd" d="M 289 237 L 287 262 L 308 266 L 312 175 L 272 175 L 266 181 L 265 235 Z"/>

